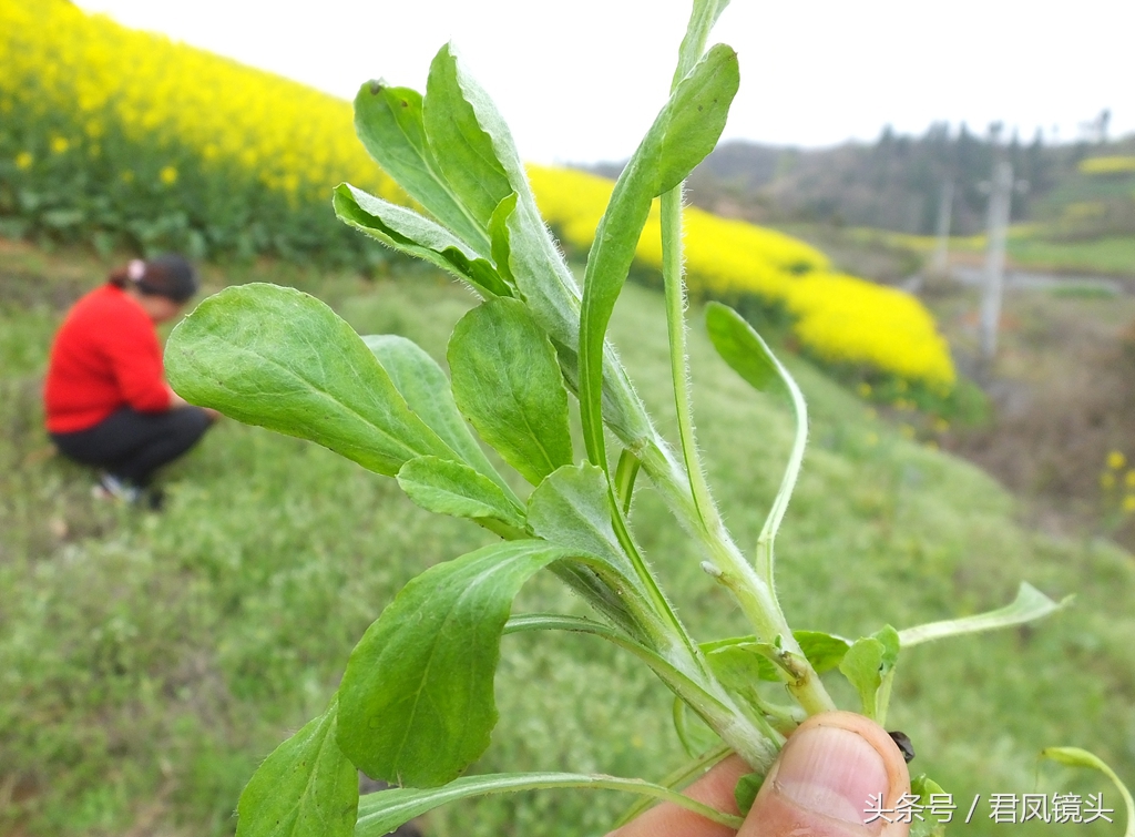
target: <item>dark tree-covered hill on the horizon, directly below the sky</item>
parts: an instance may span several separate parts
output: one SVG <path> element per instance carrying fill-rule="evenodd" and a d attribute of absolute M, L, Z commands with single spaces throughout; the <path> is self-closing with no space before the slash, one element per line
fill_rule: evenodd
<path fill-rule="evenodd" d="M 1087 160 L 1135 153 L 1135 137 L 1116 142 L 1045 144 L 1037 135 L 1008 143 L 965 125 L 934 125 L 922 136 L 883 131 L 874 143 L 801 150 L 749 142 L 723 143 L 690 178 L 698 206 L 758 223 L 818 221 L 931 235 L 945 182 L 955 184 L 951 232 L 985 228 L 983 184 L 1006 159 L 1023 182 L 1014 221 L 1051 225 L 1052 235 L 1135 234 L 1135 171 Z M 1027 184 L 1027 189 L 1025 186 Z"/>

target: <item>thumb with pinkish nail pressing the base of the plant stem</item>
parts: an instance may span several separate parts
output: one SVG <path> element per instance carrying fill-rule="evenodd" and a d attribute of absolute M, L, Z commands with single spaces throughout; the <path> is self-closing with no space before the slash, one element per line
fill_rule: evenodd
<path fill-rule="evenodd" d="M 738 837 L 906 837 L 909 825 L 865 823 L 865 810 L 893 810 L 908 793 L 907 764 L 882 727 L 851 712 L 826 712 L 788 739 Z M 882 806 L 868 803 L 880 794 Z"/>

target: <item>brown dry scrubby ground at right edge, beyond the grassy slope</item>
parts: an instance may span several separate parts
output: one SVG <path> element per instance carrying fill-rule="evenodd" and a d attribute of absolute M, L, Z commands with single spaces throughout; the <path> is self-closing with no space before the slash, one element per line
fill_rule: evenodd
<path fill-rule="evenodd" d="M 1124 510 L 1135 503 L 1130 291 L 1116 279 L 1011 275 L 987 368 L 977 360 L 977 287 L 938 282 L 922 296 L 993 405 L 987 427 L 951 432 L 944 446 L 1022 496 L 1035 524 L 1135 547 L 1135 512 Z"/>

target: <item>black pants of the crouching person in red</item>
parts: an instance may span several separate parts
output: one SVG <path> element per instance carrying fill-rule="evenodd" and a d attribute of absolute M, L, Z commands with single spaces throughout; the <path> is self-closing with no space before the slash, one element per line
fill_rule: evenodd
<path fill-rule="evenodd" d="M 52 433 L 51 438 L 76 462 L 104 468 L 119 479 L 144 487 L 155 470 L 190 450 L 208 427 L 209 417 L 200 407 L 168 412 L 123 408 L 94 427 Z"/>

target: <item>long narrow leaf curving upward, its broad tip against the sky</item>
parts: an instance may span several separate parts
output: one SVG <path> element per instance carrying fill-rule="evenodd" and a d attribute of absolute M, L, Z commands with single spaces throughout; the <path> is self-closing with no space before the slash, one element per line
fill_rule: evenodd
<path fill-rule="evenodd" d="M 579 374 L 583 436 L 591 462 L 606 467 L 603 438 L 604 337 L 627 279 L 650 201 L 681 183 L 717 143 L 737 93 L 737 55 L 714 47 L 673 91 L 623 169 L 587 260 Z"/>

